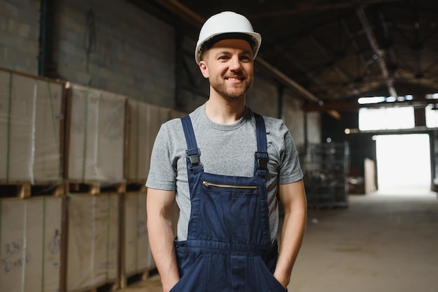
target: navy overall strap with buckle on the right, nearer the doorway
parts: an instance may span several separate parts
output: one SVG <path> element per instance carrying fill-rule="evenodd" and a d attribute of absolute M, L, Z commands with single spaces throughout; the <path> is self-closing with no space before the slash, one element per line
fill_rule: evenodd
<path fill-rule="evenodd" d="M 255 152 L 255 169 L 254 175 L 264 177 L 268 172 L 268 152 L 266 126 L 261 115 L 254 112 L 255 132 L 257 133 L 257 152 Z"/>

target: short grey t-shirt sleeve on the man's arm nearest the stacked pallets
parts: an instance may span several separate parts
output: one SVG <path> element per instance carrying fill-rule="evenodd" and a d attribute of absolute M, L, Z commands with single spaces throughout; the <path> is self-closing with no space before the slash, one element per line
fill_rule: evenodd
<path fill-rule="evenodd" d="M 155 138 L 146 187 L 165 191 L 176 189 L 176 168 L 171 151 L 171 132 L 167 122 L 162 124 Z"/>

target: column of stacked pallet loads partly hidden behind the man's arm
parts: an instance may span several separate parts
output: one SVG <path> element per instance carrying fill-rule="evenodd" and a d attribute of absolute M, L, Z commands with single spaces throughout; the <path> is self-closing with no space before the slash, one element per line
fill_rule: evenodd
<path fill-rule="evenodd" d="M 155 136 L 160 126 L 169 119 L 182 117 L 183 112 L 128 99 L 127 115 L 127 189 L 123 196 L 124 224 L 122 228 L 122 261 L 120 287 L 127 286 L 130 277 L 144 279 L 155 268 L 146 229 L 146 177 L 150 166 Z M 174 226 L 178 209 L 174 208 Z M 176 230 L 174 230 L 176 234 Z"/>

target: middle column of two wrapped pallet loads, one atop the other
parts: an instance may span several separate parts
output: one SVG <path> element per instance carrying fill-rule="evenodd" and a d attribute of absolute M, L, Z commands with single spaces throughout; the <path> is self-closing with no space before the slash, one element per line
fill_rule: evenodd
<path fill-rule="evenodd" d="M 127 96 L 67 85 L 66 291 L 118 286 Z"/>

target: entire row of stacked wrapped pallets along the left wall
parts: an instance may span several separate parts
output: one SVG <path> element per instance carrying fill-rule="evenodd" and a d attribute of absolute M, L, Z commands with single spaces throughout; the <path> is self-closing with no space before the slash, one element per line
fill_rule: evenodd
<path fill-rule="evenodd" d="M 114 290 L 146 277 L 150 154 L 161 124 L 183 115 L 0 68 L 1 291 Z M 173 217 L 176 227 L 177 207 Z"/>

